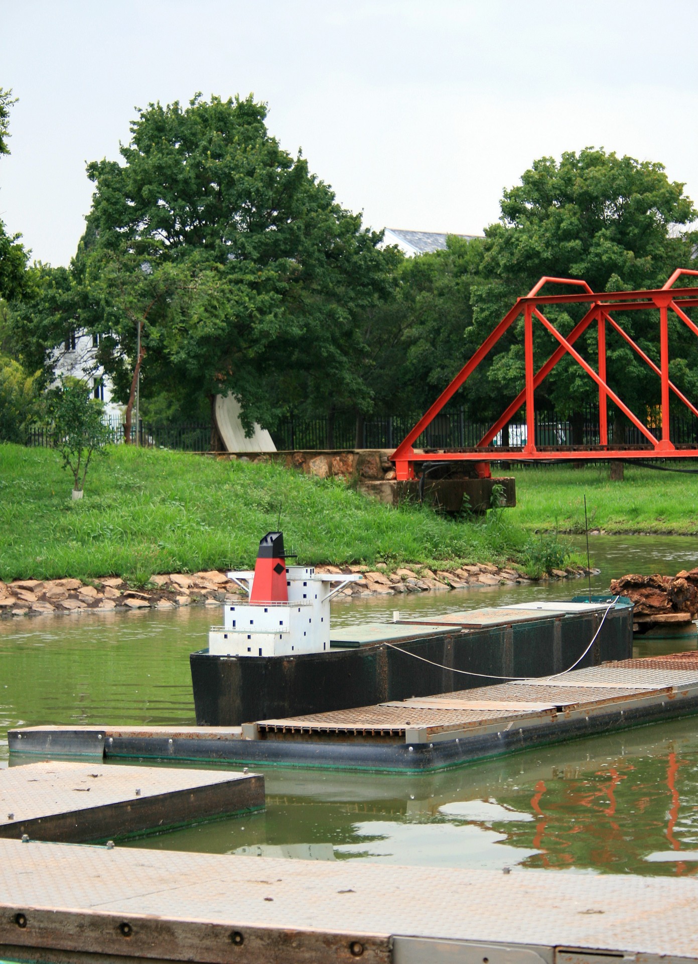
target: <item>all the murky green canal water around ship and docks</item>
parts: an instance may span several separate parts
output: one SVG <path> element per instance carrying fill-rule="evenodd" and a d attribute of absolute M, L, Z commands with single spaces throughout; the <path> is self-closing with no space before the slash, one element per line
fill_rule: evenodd
<path fill-rule="evenodd" d="M 627 572 L 698 565 L 683 537 L 590 537 L 594 591 Z M 335 625 L 560 599 L 581 580 L 337 603 Z M 217 608 L 0 623 L 0 765 L 22 724 L 191 724 L 188 655 Z M 694 649 L 644 641 L 638 655 Z M 698 872 L 698 717 L 429 776 L 269 768 L 263 814 L 136 845 L 405 865 Z M 648 859 L 649 858 L 649 859 Z"/>

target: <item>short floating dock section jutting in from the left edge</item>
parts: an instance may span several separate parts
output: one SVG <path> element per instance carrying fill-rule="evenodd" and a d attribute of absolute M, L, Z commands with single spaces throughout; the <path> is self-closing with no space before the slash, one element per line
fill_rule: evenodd
<path fill-rule="evenodd" d="M 263 808 L 257 774 L 57 762 L 0 770 L 0 838 L 116 841 Z"/>

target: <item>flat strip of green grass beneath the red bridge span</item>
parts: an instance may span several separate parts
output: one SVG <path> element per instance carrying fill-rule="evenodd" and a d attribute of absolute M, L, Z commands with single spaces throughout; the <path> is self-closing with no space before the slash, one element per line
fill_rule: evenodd
<path fill-rule="evenodd" d="M 692 462 L 677 468 L 698 469 Z M 534 531 L 583 532 L 584 495 L 590 529 L 609 533 L 698 532 L 698 475 L 638 469 L 611 482 L 608 466 L 516 469 L 516 521 Z"/>

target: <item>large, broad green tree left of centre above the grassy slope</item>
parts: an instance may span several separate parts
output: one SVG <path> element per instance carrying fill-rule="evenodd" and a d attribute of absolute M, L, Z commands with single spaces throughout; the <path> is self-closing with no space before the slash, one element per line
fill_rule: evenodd
<path fill-rule="evenodd" d="M 388 297 L 395 254 L 265 118 L 252 97 L 150 104 L 121 163 L 88 166 L 85 283 L 131 398 L 140 365 L 147 395 L 232 391 L 248 427 L 294 397 L 366 404 L 355 322 Z"/>

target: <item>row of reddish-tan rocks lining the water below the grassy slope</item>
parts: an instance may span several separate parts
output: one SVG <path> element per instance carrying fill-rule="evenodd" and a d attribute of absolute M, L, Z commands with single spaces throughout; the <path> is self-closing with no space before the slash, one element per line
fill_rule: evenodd
<path fill-rule="evenodd" d="M 531 580 L 515 568 L 497 568 L 490 563 L 462 566 L 451 571 L 432 572 L 423 566 L 411 566 L 389 572 L 388 567 L 318 566 L 318 573 L 334 575 L 359 574 L 342 594 L 345 596 L 383 596 L 399 593 L 421 593 L 436 590 L 477 588 L 482 586 L 524 584 Z M 582 576 L 585 570 L 568 567 L 553 569 L 546 577 L 562 579 Z M 219 605 L 239 601 L 239 586 L 218 570 L 194 573 L 172 573 L 152 576 L 148 585 L 131 589 L 119 576 L 103 576 L 91 582 L 80 579 L 15 579 L 0 581 L 0 617 L 40 616 L 66 612 L 115 609 L 173 609 L 185 605 Z"/>

